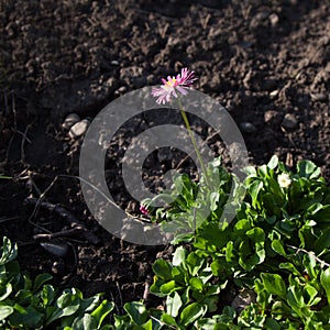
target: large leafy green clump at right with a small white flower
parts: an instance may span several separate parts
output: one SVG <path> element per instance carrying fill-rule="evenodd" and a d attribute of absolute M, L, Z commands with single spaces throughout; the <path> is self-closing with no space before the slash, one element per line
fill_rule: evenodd
<path fill-rule="evenodd" d="M 219 223 L 219 213 L 213 211 L 223 210 L 226 190 L 204 195 L 206 199 L 220 196 L 217 200 L 222 198 L 222 202 L 216 204 L 218 209 L 212 208 L 209 217 L 188 237 L 188 240 L 195 238 L 190 254 L 204 263 L 209 261 L 209 282 L 232 280 L 238 288 L 255 292 L 256 301 L 232 319 L 235 327 L 328 329 L 330 191 L 320 177 L 320 169 L 302 161 L 293 173 L 274 156 L 267 165 L 245 170 L 248 193 L 231 223 Z M 231 180 L 229 174 L 221 173 L 221 187 L 228 187 Z M 172 195 L 162 196 L 170 200 L 168 209 L 155 210 L 153 220 L 165 226 L 182 220 L 186 221 L 185 226 L 191 223 L 190 209 L 202 205 L 194 200 L 197 187 L 187 176 L 176 177 Z M 151 200 L 147 202 L 152 205 Z M 204 205 L 212 204 L 209 199 Z M 182 235 L 175 241 L 188 240 Z M 204 296 L 193 294 L 195 279 L 190 283 L 191 273 L 184 262 L 176 264 L 178 253 L 182 251 L 175 253 L 173 264 L 156 261 L 152 292 L 172 298 L 175 293 L 186 304 L 200 304 L 206 297 L 206 284 L 198 274 L 196 285 Z M 179 277 L 174 276 L 176 273 Z M 212 310 L 207 307 L 202 316 Z M 208 322 L 213 324 L 215 319 Z"/>

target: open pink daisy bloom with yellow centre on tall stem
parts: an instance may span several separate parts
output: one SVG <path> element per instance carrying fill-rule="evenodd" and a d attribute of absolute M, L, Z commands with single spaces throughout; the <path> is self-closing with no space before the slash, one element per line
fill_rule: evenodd
<path fill-rule="evenodd" d="M 156 97 L 156 102 L 158 105 L 170 101 L 170 97 L 174 96 L 177 98 L 177 91 L 182 95 L 187 95 L 187 89 L 193 86 L 195 78 L 194 72 L 189 72 L 186 67 L 182 69 L 182 74 L 178 74 L 176 77 L 167 77 L 167 80 L 162 78 L 164 85 L 160 88 L 152 89 L 152 96 Z"/>

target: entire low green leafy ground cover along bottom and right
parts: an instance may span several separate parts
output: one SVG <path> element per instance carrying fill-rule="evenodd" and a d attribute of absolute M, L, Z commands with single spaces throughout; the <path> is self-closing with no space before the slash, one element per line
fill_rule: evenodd
<path fill-rule="evenodd" d="M 75 288 L 57 292 L 45 284 L 51 279 L 47 274 L 31 280 L 15 261 L 16 246 L 4 238 L 2 327 L 330 329 L 330 189 L 320 169 L 301 161 L 292 172 L 276 156 L 267 165 L 245 168 L 248 194 L 230 223 L 219 223 L 219 211 L 232 175 L 219 160 L 208 169 L 221 177 L 216 200 L 215 194 L 205 195 L 212 208 L 209 219 L 193 234 L 176 237 L 170 261 L 158 258 L 153 264 L 150 290 L 164 300 L 163 308 L 131 301 L 124 305 L 124 315 L 116 315 L 114 304 L 100 295 L 84 299 Z M 187 209 L 204 207 L 194 200 L 197 184 L 186 175 L 174 185 L 185 189 L 179 196 L 173 190 L 176 199 L 169 209 L 151 211 L 154 221 L 182 220 Z M 240 304 L 226 304 L 230 288 Z"/>

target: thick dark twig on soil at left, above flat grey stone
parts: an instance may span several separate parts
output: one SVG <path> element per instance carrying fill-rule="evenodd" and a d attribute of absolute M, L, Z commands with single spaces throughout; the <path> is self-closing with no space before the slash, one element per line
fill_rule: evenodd
<path fill-rule="evenodd" d="M 80 230 L 82 230 L 85 238 L 92 244 L 98 244 L 100 243 L 100 239 L 95 235 L 94 233 L 91 233 L 81 221 L 79 221 L 74 215 L 72 215 L 68 210 L 66 210 L 65 208 L 51 204 L 51 202 L 46 202 L 46 201 L 40 201 L 40 199 L 34 198 L 34 197 L 28 197 L 25 198 L 25 204 L 28 205 L 34 205 L 34 206 L 38 206 L 41 208 L 44 208 L 46 210 L 48 210 L 50 212 L 54 212 L 57 216 L 59 216 L 61 218 L 65 219 L 66 221 L 68 221 L 73 228 L 78 228 Z"/>

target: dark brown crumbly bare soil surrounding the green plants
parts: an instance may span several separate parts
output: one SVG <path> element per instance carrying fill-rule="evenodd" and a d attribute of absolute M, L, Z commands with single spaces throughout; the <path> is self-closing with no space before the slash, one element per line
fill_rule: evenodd
<path fill-rule="evenodd" d="M 98 226 L 75 177 L 84 138 L 70 139 L 62 123 L 73 112 L 92 120 L 121 95 L 182 67 L 195 70 L 195 88 L 241 128 L 251 164 L 273 154 L 288 166 L 306 158 L 330 178 L 329 1 L 2 0 L 0 35 L 0 173 L 13 178 L 0 182 L 0 235 L 18 242 L 21 266 L 33 276 L 50 272 L 62 288 L 105 292 L 119 311 L 143 297 L 152 263 L 173 249 L 130 244 Z M 139 204 L 120 179 L 120 160 L 139 120 L 117 135 L 106 164 L 116 201 L 133 213 Z M 209 141 L 216 153 L 217 143 Z M 151 186 L 183 157 L 152 154 Z M 98 242 L 81 230 L 51 242 L 35 237 L 72 228 L 52 208 L 26 202 L 41 195 Z"/>

